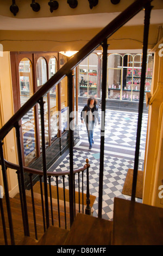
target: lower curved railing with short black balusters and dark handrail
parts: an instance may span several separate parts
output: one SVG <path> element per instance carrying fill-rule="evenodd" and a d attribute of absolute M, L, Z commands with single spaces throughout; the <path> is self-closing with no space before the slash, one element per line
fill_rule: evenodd
<path fill-rule="evenodd" d="M 1 163 L 1 161 L 0 161 Z M 22 195 L 22 187 L 21 187 L 21 177 L 20 177 L 20 166 L 17 164 L 10 163 L 6 160 L 4 160 L 5 167 L 14 169 L 16 170 L 17 173 L 17 179 L 18 179 L 18 187 L 19 187 L 19 193 L 20 193 L 20 204 L 21 204 L 21 210 L 22 210 L 22 221 L 23 221 L 23 227 L 24 227 L 24 236 L 30 235 L 29 233 L 29 227 L 27 225 L 27 220 L 24 215 L 24 209 L 23 209 L 23 195 Z M 76 210 L 77 212 L 82 212 L 83 214 L 89 214 L 91 213 L 91 207 L 90 207 L 90 192 L 89 192 L 89 160 L 86 159 L 86 164 L 84 165 L 83 168 L 76 169 L 73 171 L 73 181 L 75 181 L 75 175 L 77 174 L 78 177 L 76 179 L 76 182 L 78 184 L 78 198 L 76 198 L 76 189 L 75 186 L 73 187 L 73 196 L 74 196 L 74 217 L 76 216 Z M 37 170 L 29 167 L 23 167 L 24 172 L 29 174 L 29 182 L 30 182 L 30 197 L 32 201 L 32 208 L 33 208 L 33 221 L 34 221 L 34 230 L 35 230 L 35 239 L 37 240 L 37 223 L 36 223 L 36 214 L 35 214 L 35 190 L 33 190 L 33 180 L 32 176 L 37 175 L 39 177 L 39 183 L 40 183 L 40 198 L 41 198 L 41 206 L 42 206 L 42 223 L 43 223 L 43 230 L 44 232 L 46 231 L 47 227 L 47 222 L 46 222 L 46 216 L 45 216 L 45 201 L 44 201 L 44 191 L 43 191 L 43 186 L 42 186 L 42 178 L 43 178 L 43 171 L 42 170 Z M 86 170 L 86 173 L 84 172 Z M 57 190 L 57 209 L 58 209 L 58 227 L 61 227 L 61 221 L 60 221 L 60 200 L 64 201 L 64 227 L 67 229 L 67 207 L 66 207 L 66 194 L 65 194 L 65 178 L 66 176 L 68 177 L 69 181 L 69 176 L 70 172 L 69 171 L 62 171 L 62 172 L 56 172 L 54 171 L 48 171 L 47 172 L 47 178 L 48 178 L 48 197 L 49 197 L 49 205 L 51 209 L 51 224 L 54 225 L 54 216 L 53 216 L 53 195 L 52 195 L 52 185 L 51 185 L 51 178 L 55 178 L 55 186 Z M 81 177 L 82 176 L 82 177 Z M 84 178 L 86 178 L 86 202 L 84 202 Z M 61 185 L 59 186 L 59 179 L 61 181 Z M 81 182 L 80 182 L 81 179 Z M 82 184 L 82 185 L 81 185 Z M 60 197 L 59 193 L 59 187 L 62 188 L 62 195 Z M 38 192 L 38 190 L 36 190 Z M 27 193 L 27 191 L 26 191 Z M 29 193 L 27 193 L 29 195 Z M 76 200 L 77 199 L 77 200 Z M 67 202 L 70 202 L 70 200 L 67 200 Z M 5 244 L 8 244 L 8 237 L 7 237 L 7 231 L 5 228 L 5 220 L 4 220 L 4 213 L 3 213 L 3 200 L 0 198 L 1 202 L 1 216 L 2 216 L 2 224 L 3 224 L 3 233 L 4 233 L 4 238 L 5 238 Z M 85 204 L 86 203 L 86 204 Z M 78 209 L 77 207 L 78 206 Z M 68 208 L 69 209 L 69 208 Z M 84 211 L 85 209 L 85 211 Z M 27 212 L 28 216 L 28 212 Z M 56 218 L 56 216 L 55 216 Z M 14 233 L 14 230 L 12 230 Z"/>

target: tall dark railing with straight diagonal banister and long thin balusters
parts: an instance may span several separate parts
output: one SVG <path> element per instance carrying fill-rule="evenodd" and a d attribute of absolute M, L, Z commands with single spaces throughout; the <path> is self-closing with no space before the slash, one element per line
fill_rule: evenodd
<path fill-rule="evenodd" d="M 24 188 L 24 167 L 22 163 L 21 155 L 21 141 L 20 141 L 20 125 L 19 121 L 36 103 L 40 104 L 41 113 L 41 137 L 42 137 L 42 163 L 43 163 L 43 182 L 45 190 L 45 215 L 46 215 L 46 227 L 49 227 L 49 212 L 48 212 L 48 193 L 47 193 L 47 166 L 46 166 L 46 148 L 45 148 L 45 127 L 44 127 L 44 107 L 43 107 L 43 96 L 55 85 L 57 85 L 62 78 L 67 76 L 68 78 L 68 104 L 69 113 L 72 113 L 72 70 L 80 63 L 84 58 L 95 50 L 99 45 L 103 48 L 103 68 L 102 68 L 102 111 L 105 113 L 105 99 L 106 99 L 106 69 L 107 69 L 107 50 L 108 44 L 107 39 L 114 34 L 119 28 L 126 24 L 132 17 L 134 17 L 139 11 L 145 8 L 145 26 L 143 35 L 143 59 L 142 59 L 142 72 L 141 72 L 141 86 L 140 86 L 140 102 L 139 102 L 139 117 L 137 124 L 137 137 L 136 137 L 136 150 L 135 150 L 135 163 L 134 163 L 134 175 L 133 175 L 133 190 L 131 200 L 135 200 L 136 191 L 136 180 L 137 180 L 137 167 L 139 162 L 139 148 L 140 148 L 140 133 L 141 133 L 141 122 L 142 122 L 142 110 L 143 110 L 143 99 L 144 99 L 144 87 L 145 87 L 145 75 L 146 75 L 146 58 L 147 58 L 147 47 L 148 47 L 148 30 L 149 20 L 151 14 L 151 2 L 152 0 L 136 0 L 120 15 L 118 15 L 113 21 L 109 23 L 105 28 L 102 29 L 92 40 L 90 40 L 76 55 L 62 66 L 62 68 L 51 77 L 37 92 L 30 97 L 30 99 L 24 103 L 24 105 L 10 118 L 10 120 L 0 130 L 0 154 L 1 154 L 1 165 L 3 174 L 3 184 L 5 191 L 5 198 L 7 202 L 7 210 L 10 225 L 11 243 L 14 244 L 14 233 L 12 230 L 12 218 L 10 210 L 10 199 L 8 191 L 8 181 L 6 173 L 6 165 L 3 155 L 3 139 L 8 132 L 15 127 L 16 138 L 17 138 L 17 152 L 18 162 L 20 166 L 20 182 L 22 190 L 22 205 L 24 214 L 24 234 L 29 235 L 28 227 L 28 215 L 26 205 L 26 191 Z M 105 119 L 105 114 L 102 115 Z M 69 124 L 71 124 L 72 117 L 70 115 Z M 102 124 L 105 121 L 102 120 Z M 100 168 L 99 168 L 99 199 L 98 199 L 98 217 L 102 217 L 102 195 L 103 195 L 103 164 L 104 164 L 104 127 L 101 126 L 101 151 L 100 151 Z M 74 197 L 73 197 L 73 130 L 69 129 L 69 149 L 70 149 L 70 223 L 72 225 L 74 220 Z"/>

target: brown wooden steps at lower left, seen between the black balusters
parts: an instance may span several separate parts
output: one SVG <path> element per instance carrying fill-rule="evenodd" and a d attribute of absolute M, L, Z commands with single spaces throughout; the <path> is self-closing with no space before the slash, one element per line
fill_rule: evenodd
<path fill-rule="evenodd" d="M 27 199 L 30 238 L 35 239 L 32 200 L 31 200 L 31 197 L 28 197 L 28 196 L 26 196 L 26 199 Z M 41 200 L 39 198 L 35 198 L 34 202 L 35 202 L 36 225 L 37 225 L 37 239 L 39 240 L 44 233 L 42 205 L 41 205 Z M 20 241 L 22 241 L 24 237 L 22 211 L 21 211 L 19 194 L 17 194 L 15 198 L 10 198 L 10 206 L 11 206 L 12 222 L 14 227 L 15 244 L 17 245 Z M 10 230 L 9 230 L 8 214 L 7 214 L 7 206 L 5 203 L 5 198 L 3 198 L 3 209 L 4 209 L 4 216 L 5 216 L 5 225 L 7 229 L 8 244 L 10 245 Z M 67 218 L 67 229 L 70 229 L 70 215 L 68 214 L 68 209 L 67 209 L 66 218 Z M 54 227 L 59 227 L 58 206 L 55 204 L 53 204 L 53 220 L 54 220 Z M 50 204 L 49 204 L 49 223 L 50 225 L 52 223 Z M 60 224 L 62 228 L 65 228 L 64 208 L 61 205 L 60 205 Z M 1 216 L 0 216 L 0 245 L 4 245 Z"/>

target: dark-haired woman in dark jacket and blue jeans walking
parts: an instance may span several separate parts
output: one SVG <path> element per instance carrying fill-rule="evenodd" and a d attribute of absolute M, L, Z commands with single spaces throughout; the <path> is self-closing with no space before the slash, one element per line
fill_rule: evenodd
<path fill-rule="evenodd" d="M 84 106 L 82 112 L 81 112 L 81 120 L 82 123 L 86 124 L 86 130 L 87 130 L 87 136 L 89 139 L 90 147 L 89 149 L 92 148 L 92 144 L 94 143 L 93 141 L 93 129 L 94 126 L 99 124 L 99 114 L 98 114 L 98 106 L 97 106 L 97 100 L 94 97 L 90 97 L 87 100 L 87 105 Z"/>

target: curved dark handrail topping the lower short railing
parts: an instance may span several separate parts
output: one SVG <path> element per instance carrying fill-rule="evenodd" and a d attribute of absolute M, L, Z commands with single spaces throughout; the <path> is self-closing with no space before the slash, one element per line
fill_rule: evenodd
<path fill-rule="evenodd" d="M 86 164 L 84 165 L 84 167 L 80 168 L 80 169 L 73 170 L 73 173 L 74 174 L 80 173 L 80 172 L 83 172 L 84 170 L 86 170 L 87 168 L 89 168 L 90 164 L 88 162 L 89 161 L 86 159 Z M 7 160 L 4 160 L 4 163 L 5 163 L 5 166 L 8 168 L 11 168 L 14 170 L 20 170 L 20 166 L 18 164 L 8 162 Z M 0 164 L 1 164 L 1 160 L 0 160 Z M 37 170 L 37 169 L 26 167 L 26 166 L 23 167 L 23 170 L 24 170 L 24 172 L 27 172 L 27 173 L 32 173 L 32 174 L 37 174 L 37 175 L 43 176 L 43 170 Z M 48 176 L 61 176 L 61 175 L 69 175 L 69 174 L 70 174 L 69 170 L 62 171 L 62 172 L 48 172 L 47 171 Z"/>

